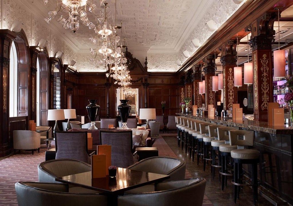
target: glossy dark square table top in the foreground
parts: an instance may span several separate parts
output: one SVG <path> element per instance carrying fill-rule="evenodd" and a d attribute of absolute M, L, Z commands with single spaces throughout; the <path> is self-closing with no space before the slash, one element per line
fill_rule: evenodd
<path fill-rule="evenodd" d="M 170 176 L 117 168 L 116 178 L 91 178 L 91 171 L 56 178 L 56 181 L 105 193 L 123 195 L 124 191 L 160 182 Z"/>

